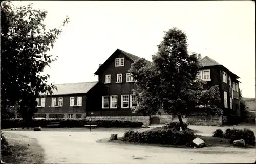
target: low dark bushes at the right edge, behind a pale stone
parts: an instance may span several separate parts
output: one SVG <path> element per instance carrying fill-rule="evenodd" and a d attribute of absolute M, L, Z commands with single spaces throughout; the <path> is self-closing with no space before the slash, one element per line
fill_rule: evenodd
<path fill-rule="evenodd" d="M 218 135 L 217 135 L 218 133 Z M 220 134 L 223 135 L 220 135 Z M 229 143 L 233 144 L 234 140 L 244 139 L 245 144 L 255 145 L 255 134 L 252 130 L 244 129 L 226 129 L 225 133 L 221 129 L 217 129 L 214 132 L 214 137 L 224 137 L 229 139 Z"/>

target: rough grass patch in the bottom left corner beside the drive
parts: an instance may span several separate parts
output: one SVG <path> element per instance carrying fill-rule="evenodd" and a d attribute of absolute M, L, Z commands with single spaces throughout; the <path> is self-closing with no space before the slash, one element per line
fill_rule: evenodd
<path fill-rule="evenodd" d="M 44 163 L 44 150 L 38 145 L 36 139 L 23 135 L 4 132 L 9 145 L 2 150 L 2 160 L 6 163 Z"/>

